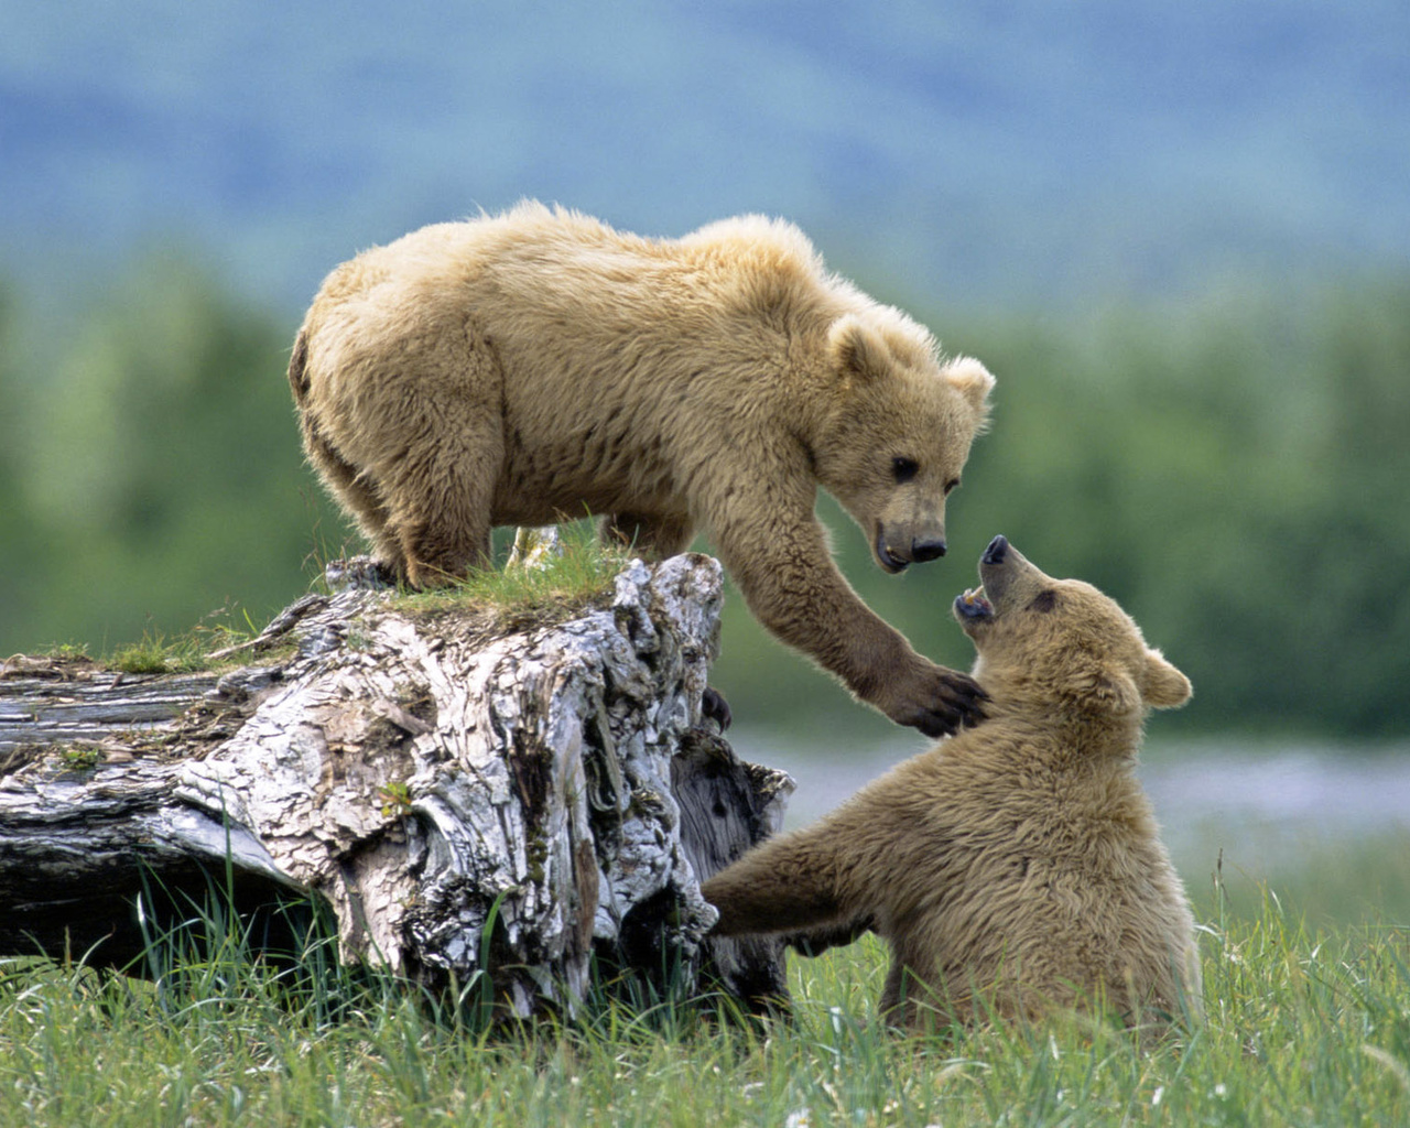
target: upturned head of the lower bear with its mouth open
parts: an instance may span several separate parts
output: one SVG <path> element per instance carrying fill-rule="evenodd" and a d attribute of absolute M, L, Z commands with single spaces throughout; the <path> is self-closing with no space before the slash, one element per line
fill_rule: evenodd
<path fill-rule="evenodd" d="M 990 541 L 979 574 L 983 587 L 956 598 L 955 618 L 979 651 L 976 680 L 995 697 L 1111 713 L 1189 701 L 1184 674 L 1091 584 L 1045 575 L 1004 537 Z"/>

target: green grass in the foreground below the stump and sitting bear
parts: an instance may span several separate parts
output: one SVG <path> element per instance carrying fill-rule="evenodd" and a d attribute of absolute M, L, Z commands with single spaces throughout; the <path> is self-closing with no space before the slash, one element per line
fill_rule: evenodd
<path fill-rule="evenodd" d="M 792 1021 L 599 1001 L 494 1036 L 474 1007 L 317 966 L 292 981 L 238 942 L 179 950 L 155 986 L 10 962 L 0 1125 L 1404 1124 L 1407 936 L 1308 931 L 1265 897 L 1206 925 L 1208 1019 L 1153 1048 L 1060 1019 L 887 1034 L 870 939 L 791 960 Z"/>

